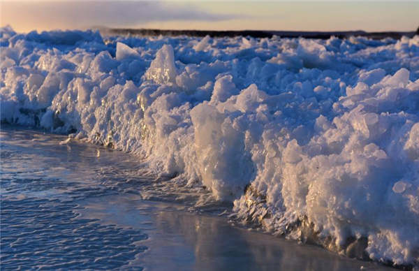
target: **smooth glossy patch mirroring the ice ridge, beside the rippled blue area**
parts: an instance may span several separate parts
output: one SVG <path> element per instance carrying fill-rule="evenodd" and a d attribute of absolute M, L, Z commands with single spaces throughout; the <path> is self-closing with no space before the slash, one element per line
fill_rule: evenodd
<path fill-rule="evenodd" d="M 181 205 L 149 202 L 135 196 L 109 196 L 82 203 L 83 217 L 104 224 L 141 228 L 148 247 L 129 265 L 147 270 L 392 270 L 355 261 L 319 247 L 299 245 L 230 226 L 223 217 L 184 211 Z"/>

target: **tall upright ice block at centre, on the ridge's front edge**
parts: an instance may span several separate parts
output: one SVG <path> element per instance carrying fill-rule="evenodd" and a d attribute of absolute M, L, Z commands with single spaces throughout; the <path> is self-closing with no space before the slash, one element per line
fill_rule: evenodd
<path fill-rule="evenodd" d="M 253 172 L 244 149 L 244 133 L 211 105 L 197 105 L 191 118 L 203 184 L 219 199 L 240 195 Z"/>

